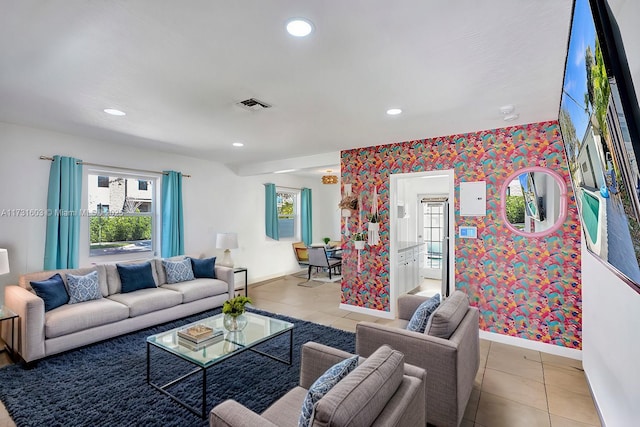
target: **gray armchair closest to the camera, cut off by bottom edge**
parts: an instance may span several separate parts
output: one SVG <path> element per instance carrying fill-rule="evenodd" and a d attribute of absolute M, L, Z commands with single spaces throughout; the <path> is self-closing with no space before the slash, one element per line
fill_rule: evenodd
<path fill-rule="evenodd" d="M 322 344 L 302 346 L 300 384 L 278 399 L 262 415 L 234 400 L 226 400 L 209 414 L 211 427 L 297 427 L 309 387 L 327 369 L 352 355 Z M 402 353 L 384 346 L 340 380 L 318 401 L 312 426 L 396 426 L 425 424 L 424 369 L 404 363 Z"/>

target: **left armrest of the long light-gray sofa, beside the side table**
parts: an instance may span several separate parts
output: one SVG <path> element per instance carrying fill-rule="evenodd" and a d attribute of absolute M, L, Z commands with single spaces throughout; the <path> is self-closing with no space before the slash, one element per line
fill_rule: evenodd
<path fill-rule="evenodd" d="M 10 285 L 4 288 L 4 303 L 20 316 L 17 336 L 17 351 L 20 356 L 26 362 L 43 358 L 44 301 L 20 286 Z"/>

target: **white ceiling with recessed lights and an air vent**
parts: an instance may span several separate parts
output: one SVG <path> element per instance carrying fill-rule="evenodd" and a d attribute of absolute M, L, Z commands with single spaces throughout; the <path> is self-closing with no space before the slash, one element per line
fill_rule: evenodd
<path fill-rule="evenodd" d="M 343 149 L 557 119 L 571 6 L 0 0 L 0 121 L 240 174 L 328 167 Z M 292 17 L 311 35 L 288 35 Z M 236 105 L 248 98 L 272 107 Z"/>

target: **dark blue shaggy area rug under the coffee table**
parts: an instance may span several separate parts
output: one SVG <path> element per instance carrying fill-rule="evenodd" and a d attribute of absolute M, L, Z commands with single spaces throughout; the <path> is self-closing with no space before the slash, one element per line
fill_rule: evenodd
<path fill-rule="evenodd" d="M 247 351 L 207 371 L 207 407 L 235 399 L 260 413 L 298 384 L 300 348 L 316 341 L 353 353 L 355 338 L 341 331 L 304 320 L 252 310 L 295 324 L 293 365 Z M 146 337 L 213 316 L 220 309 L 147 328 L 83 347 L 38 362 L 25 370 L 19 365 L 0 369 L 0 400 L 18 427 L 22 426 L 208 426 L 177 402 L 147 384 Z M 289 334 L 261 345 L 260 350 L 287 358 Z M 152 352 L 152 371 L 171 378 L 189 372 L 193 365 L 162 351 Z M 201 375 L 172 388 L 188 403 L 198 406 Z"/>

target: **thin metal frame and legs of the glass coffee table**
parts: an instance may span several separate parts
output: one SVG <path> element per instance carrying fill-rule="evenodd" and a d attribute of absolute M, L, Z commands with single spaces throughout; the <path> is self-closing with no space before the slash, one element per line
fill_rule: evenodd
<path fill-rule="evenodd" d="M 245 313 L 245 315 L 249 318 L 249 321 L 251 320 L 251 317 L 255 316 L 257 318 L 261 318 L 262 320 L 278 320 L 279 322 L 284 322 L 287 323 L 289 326 L 285 327 L 284 329 L 277 331 L 273 334 L 269 334 L 266 335 L 264 337 L 261 337 L 259 339 L 254 340 L 251 343 L 248 344 L 240 344 L 238 342 L 234 342 L 233 341 L 233 337 L 228 339 L 228 337 L 230 336 L 230 334 L 234 334 L 234 332 L 226 332 L 225 333 L 225 338 L 224 341 L 226 341 L 227 343 L 230 343 L 231 345 L 235 346 L 235 348 L 230 351 L 228 354 L 225 354 L 221 357 L 215 358 L 211 361 L 208 361 L 206 363 L 200 363 L 198 361 L 193 360 L 192 358 L 189 358 L 181 353 L 178 353 L 176 351 L 172 351 L 171 349 L 163 346 L 162 344 L 154 341 L 154 339 L 160 335 L 167 335 L 170 333 L 176 333 L 179 329 L 184 329 L 187 328 L 191 325 L 196 325 L 196 324 L 200 324 L 200 323 L 211 323 L 213 320 L 215 319 L 220 319 L 219 322 L 221 322 L 221 319 L 223 318 L 223 314 L 217 314 L 215 316 L 212 316 L 210 318 L 206 318 L 206 319 L 202 319 L 200 321 L 194 322 L 190 325 L 185 325 L 185 326 L 181 326 L 179 328 L 175 328 L 175 329 L 171 329 L 165 332 L 162 332 L 160 334 L 156 334 L 156 335 L 152 335 L 150 337 L 147 337 L 147 384 L 151 385 L 152 387 L 154 387 L 155 389 L 159 390 L 160 392 L 162 392 L 163 394 L 165 394 L 166 396 L 169 396 L 171 399 L 175 400 L 176 402 L 178 402 L 180 405 L 184 406 L 185 408 L 187 408 L 189 411 L 193 412 L 194 414 L 200 416 L 202 419 L 205 419 L 207 417 L 207 369 L 217 365 L 218 363 L 227 360 L 233 356 L 236 356 L 240 353 L 243 353 L 247 350 L 253 351 L 254 353 L 258 353 L 262 356 L 266 356 L 270 359 L 276 360 L 278 362 L 282 362 L 285 363 L 287 365 L 291 365 L 293 362 L 293 324 L 289 323 L 289 322 L 285 322 L 282 321 L 280 319 L 275 319 L 275 318 L 270 318 L 267 316 L 262 316 L 259 314 L 255 314 L 255 313 Z M 259 344 L 265 343 L 267 341 L 270 341 L 276 337 L 279 337 L 283 334 L 289 333 L 289 359 L 283 359 L 283 358 L 279 358 L 277 356 L 265 353 L 263 351 L 257 350 L 254 347 L 256 347 Z M 237 333 L 237 332 L 236 332 Z M 177 356 L 179 358 L 181 358 L 182 360 L 185 360 L 193 365 L 196 366 L 195 369 L 193 369 L 192 371 L 182 375 L 179 378 L 176 378 L 172 381 L 169 381 L 166 384 L 156 384 L 155 382 L 153 382 L 151 380 L 151 347 L 156 347 L 159 348 L 167 353 L 173 354 L 174 356 Z M 184 400 L 180 399 L 179 397 L 171 394 L 167 389 L 189 377 L 191 377 L 194 374 L 197 374 L 198 372 L 202 373 L 202 405 L 201 408 L 198 409 L 192 405 L 190 405 L 189 403 L 185 402 Z"/>

